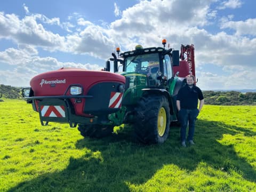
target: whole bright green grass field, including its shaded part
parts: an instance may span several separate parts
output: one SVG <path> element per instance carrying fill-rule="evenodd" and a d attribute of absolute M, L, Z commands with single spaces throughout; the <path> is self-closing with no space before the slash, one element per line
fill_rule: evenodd
<path fill-rule="evenodd" d="M 97 140 L 41 126 L 21 100 L 0 102 L 0 114 L 0 191 L 256 191 L 255 106 L 204 106 L 187 148 L 177 127 L 140 146 L 129 127 Z"/>

